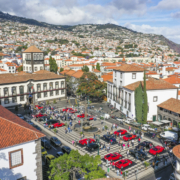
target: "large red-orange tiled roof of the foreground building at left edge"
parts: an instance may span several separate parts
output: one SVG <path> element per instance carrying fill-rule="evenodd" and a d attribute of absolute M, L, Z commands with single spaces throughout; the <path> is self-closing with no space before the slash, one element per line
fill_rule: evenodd
<path fill-rule="evenodd" d="M 0 148 L 6 148 L 45 137 L 26 121 L 0 106 Z"/>

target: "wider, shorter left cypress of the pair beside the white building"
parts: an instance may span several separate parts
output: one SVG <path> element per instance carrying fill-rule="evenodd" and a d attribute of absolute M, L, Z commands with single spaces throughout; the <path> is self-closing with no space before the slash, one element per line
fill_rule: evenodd
<path fill-rule="evenodd" d="M 135 89 L 135 113 L 136 113 L 136 120 L 138 122 L 142 121 L 142 86 L 141 83 Z"/>

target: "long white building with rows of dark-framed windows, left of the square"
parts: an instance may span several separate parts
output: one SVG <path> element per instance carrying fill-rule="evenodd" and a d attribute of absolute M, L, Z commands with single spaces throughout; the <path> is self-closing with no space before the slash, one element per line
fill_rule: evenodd
<path fill-rule="evenodd" d="M 0 74 L 0 97 L 4 107 L 65 98 L 65 77 L 45 70 Z"/>

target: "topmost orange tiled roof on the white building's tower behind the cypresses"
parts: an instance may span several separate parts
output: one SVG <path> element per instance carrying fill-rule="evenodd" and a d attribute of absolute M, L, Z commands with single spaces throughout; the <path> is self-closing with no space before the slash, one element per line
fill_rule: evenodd
<path fill-rule="evenodd" d="M 114 70 L 119 70 L 123 72 L 143 72 L 144 68 L 131 64 L 122 64 L 121 66 L 114 68 Z"/>

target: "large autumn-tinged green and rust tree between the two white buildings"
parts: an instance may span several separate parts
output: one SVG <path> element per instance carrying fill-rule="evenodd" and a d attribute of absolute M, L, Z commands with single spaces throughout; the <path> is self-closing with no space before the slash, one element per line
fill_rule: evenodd
<path fill-rule="evenodd" d="M 107 89 L 107 84 L 98 80 L 94 73 L 84 73 L 80 78 L 77 94 L 85 94 L 92 97 L 102 97 Z"/>

